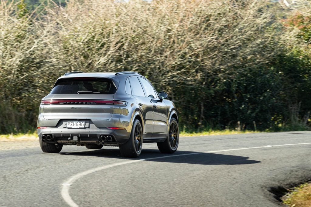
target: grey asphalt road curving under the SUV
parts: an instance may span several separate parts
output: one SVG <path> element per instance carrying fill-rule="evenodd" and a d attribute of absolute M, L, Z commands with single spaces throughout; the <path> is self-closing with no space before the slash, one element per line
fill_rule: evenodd
<path fill-rule="evenodd" d="M 161 156 L 155 143 L 144 160 L 117 147 L 3 150 L 0 206 L 280 206 L 275 194 L 311 179 L 311 132 L 181 137 Z"/>

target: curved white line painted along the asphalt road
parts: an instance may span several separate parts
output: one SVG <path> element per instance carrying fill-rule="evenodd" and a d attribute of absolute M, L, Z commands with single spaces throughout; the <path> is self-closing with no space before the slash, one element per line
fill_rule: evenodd
<path fill-rule="evenodd" d="M 72 176 L 71 178 L 69 178 L 65 183 L 63 183 L 61 194 L 62 194 L 63 199 L 65 200 L 65 202 L 69 206 L 71 206 L 71 207 L 79 207 L 72 200 L 72 198 L 69 195 L 69 188 L 72 185 L 72 183 L 74 183 L 77 179 L 79 179 L 79 178 L 81 178 L 81 177 L 83 177 L 85 175 L 88 175 L 88 174 L 91 174 L 91 173 L 95 173 L 96 171 L 99 171 L 99 170 L 103 170 L 103 169 L 119 166 L 119 165 L 130 164 L 130 163 L 140 162 L 140 161 L 145 161 L 145 160 L 161 159 L 161 158 L 167 158 L 167 157 L 177 157 L 177 156 L 185 156 L 185 155 L 197 155 L 197 154 L 202 154 L 202 153 L 227 152 L 227 151 L 236 151 L 236 150 L 248 150 L 248 149 L 266 148 L 266 147 L 291 146 L 291 145 L 308 145 L 308 144 L 311 144 L 311 142 L 295 143 L 295 144 L 284 144 L 284 145 L 255 146 L 255 147 L 245 147 L 245 148 L 229 149 L 229 150 L 216 150 L 216 151 L 207 151 L 207 152 L 193 152 L 193 153 L 180 154 L 180 155 L 167 155 L 167 156 L 151 157 L 151 158 L 139 159 L 139 160 L 130 160 L 130 161 L 120 162 L 120 163 L 116 163 L 116 164 L 104 165 L 104 166 L 101 166 L 101 167 L 97 167 L 97 168 L 86 170 L 86 171 L 84 171 L 82 173 L 76 174 L 76 175 Z"/>

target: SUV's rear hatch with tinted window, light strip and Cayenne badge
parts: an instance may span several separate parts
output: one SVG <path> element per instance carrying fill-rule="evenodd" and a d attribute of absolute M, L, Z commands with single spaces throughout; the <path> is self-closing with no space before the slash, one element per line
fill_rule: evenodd
<path fill-rule="evenodd" d="M 107 120 L 113 113 L 117 88 L 110 79 L 58 79 L 48 96 L 41 101 L 44 119 Z"/>

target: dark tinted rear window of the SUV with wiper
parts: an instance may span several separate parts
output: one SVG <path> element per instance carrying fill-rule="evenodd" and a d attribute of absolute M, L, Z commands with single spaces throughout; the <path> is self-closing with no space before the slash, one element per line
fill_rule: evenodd
<path fill-rule="evenodd" d="M 73 78 L 58 81 L 50 94 L 114 94 L 116 91 L 109 79 Z"/>

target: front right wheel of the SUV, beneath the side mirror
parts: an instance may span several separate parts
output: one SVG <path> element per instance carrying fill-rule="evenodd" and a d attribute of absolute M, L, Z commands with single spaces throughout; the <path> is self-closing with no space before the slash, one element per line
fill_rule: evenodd
<path fill-rule="evenodd" d="M 172 136 L 173 135 L 173 136 Z M 171 118 L 169 122 L 169 134 L 164 142 L 157 142 L 158 149 L 162 153 L 174 153 L 179 144 L 179 128 L 176 119 Z"/>

